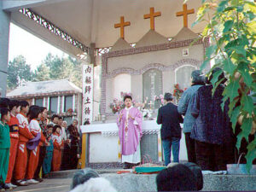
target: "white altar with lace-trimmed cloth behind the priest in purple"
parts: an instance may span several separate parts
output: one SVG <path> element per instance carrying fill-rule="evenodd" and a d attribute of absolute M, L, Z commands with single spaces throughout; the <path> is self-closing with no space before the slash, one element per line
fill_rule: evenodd
<path fill-rule="evenodd" d="M 83 139 L 83 153 L 86 151 L 86 164 L 118 163 L 120 162 L 120 146 L 118 126 L 116 123 L 105 123 L 81 126 Z M 160 125 L 155 120 L 143 121 L 143 137 L 141 141 L 142 161 L 163 161 L 163 151 L 160 140 Z M 150 157 L 150 158 L 149 158 Z M 187 149 L 184 135 L 180 142 L 180 161 L 186 161 Z M 84 164 L 85 165 L 85 164 Z"/>

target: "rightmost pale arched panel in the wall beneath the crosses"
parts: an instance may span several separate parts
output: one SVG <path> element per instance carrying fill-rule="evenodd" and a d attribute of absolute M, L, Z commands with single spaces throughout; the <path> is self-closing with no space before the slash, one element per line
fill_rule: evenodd
<path fill-rule="evenodd" d="M 191 83 L 191 73 L 196 70 L 195 66 L 186 65 L 177 68 L 175 71 L 175 81 L 179 84 L 180 89 L 189 88 Z"/>

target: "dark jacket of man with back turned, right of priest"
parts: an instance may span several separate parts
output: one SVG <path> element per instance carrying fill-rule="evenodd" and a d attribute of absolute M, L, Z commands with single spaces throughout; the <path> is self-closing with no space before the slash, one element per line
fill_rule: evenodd
<path fill-rule="evenodd" d="M 172 102 L 158 110 L 157 124 L 161 124 L 161 139 L 166 140 L 172 137 L 181 138 L 181 127 L 183 117 L 177 112 L 177 106 Z"/>

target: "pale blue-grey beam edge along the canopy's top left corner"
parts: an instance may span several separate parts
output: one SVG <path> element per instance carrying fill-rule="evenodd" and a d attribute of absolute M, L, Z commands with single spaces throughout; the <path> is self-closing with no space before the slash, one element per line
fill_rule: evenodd
<path fill-rule="evenodd" d="M 22 8 L 34 8 L 49 3 L 59 3 L 72 0 L 3 0 L 3 10 L 15 11 Z"/>

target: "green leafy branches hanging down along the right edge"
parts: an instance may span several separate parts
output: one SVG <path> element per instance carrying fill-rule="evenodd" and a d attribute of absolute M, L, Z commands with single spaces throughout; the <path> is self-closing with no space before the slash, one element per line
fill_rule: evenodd
<path fill-rule="evenodd" d="M 256 122 L 256 108 L 253 97 L 256 93 L 256 5 L 253 0 L 202 0 L 198 10 L 195 25 L 198 22 L 207 22 L 202 32 L 204 38 L 209 38 L 211 46 L 206 50 L 205 61 L 201 69 L 210 61 L 221 67 L 228 77 L 224 89 L 224 100 L 230 100 L 229 116 L 235 131 L 237 120 L 242 118 L 241 132 L 237 136 L 236 148 L 240 148 L 241 139 L 252 133 L 253 123 Z M 210 12 L 212 13 L 212 19 Z M 211 73 L 212 70 L 209 72 Z M 220 73 L 212 78 L 213 91 L 221 80 Z M 254 93 L 250 94 L 249 93 Z M 255 98 L 254 98 L 255 99 Z M 256 159 L 256 137 L 247 145 L 247 171 Z"/>

